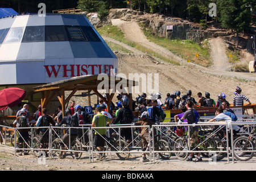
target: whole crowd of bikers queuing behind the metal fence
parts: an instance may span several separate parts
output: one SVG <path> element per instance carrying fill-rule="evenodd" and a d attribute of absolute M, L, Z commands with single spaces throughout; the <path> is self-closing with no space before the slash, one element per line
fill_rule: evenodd
<path fill-rule="evenodd" d="M 234 92 L 233 104 L 234 106 L 242 106 L 243 100 L 249 102 L 250 100 L 241 94 L 242 90 L 237 86 L 236 92 Z M 79 125 L 89 124 L 92 127 L 95 127 L 94 130 L 94 146 L 98 151 L 102 151 L 104 148 L 105 137 L 109 137 L 106 133 L 105 128 L 97 127 L 106 127 L 110 124 L 132 124 L 134 122 L 134 114 L 133 111 L 139 111 L 138 122 L 135 122 L 134 125 L 144 126 L 144 125 L 154 125 L 156 122 L 162 122 L 166 117 L 164 113 L 164 109 L 180 109 L 181 114 L 174 115 L 174 120 L 178 125 L 182 123 L 195 124 L 199 121 L 199 114 L 195 110 L 195 107 L 214 107 L 217 106 L 218 109 L 216 111 L 216 117 L 211 119 L 209 122 L 220 121 L 221 119 L 229 119 L 235 120 L 232 117 L 234 115 L 233 111 L 229 109 L 229 102 L 226 101 L 226 96 L 224 93 L 219 94 L 217 97 L 217 101 L 214 102 L 212 98 L 210 98 L 210 93 L 205 92 L 205 97 L 202 93 L 197 93 L 198 100 L 192 97 L 191 90 L 188 90 L 187 94 L 182 95 L 179 90 L 177 90 L 174 94 L 167 93 L 164 101 L 161 101 L 162 94 L 156 93 L 152 94 L 151 98 L 147 98 L 146 93 L 142 93 L 139 97 L 136 98 L 136 101 L 133 101 L 133 109 L 129 107 L 129 98 L 126 96 L 122 96 L 122 94 L 118 94 L 116 102 L 116 106 L 111 102 L 110 104 L 110 113 L 108 113 L 107 105 L 104 101 L 100 101 L 100 103 L 95 108 L 95 115 L 92 117 L 87 114 L 84 110 L 84 107 L 81 105 L 76 105 L 75 101 L 71 102 L 71 106 L 68 107 L 63 114 L 62 107 L 59 106 L 55 114 L 48 115 L 47 109 L 42 108 L 41 105 L 38 106 L 38 110 L 34 113 L 34 117 L 31 117 L 31 114 L 28 111 L 28 105 L 23 105 L 23 108 L 20 109 L 16 114 L 16 119 L 14 121 L 14 127 L 19 127 L 19 137 L 18 142 L 16 143 L 16 148 L 23 148 L 24 141 L 28 140 L 28 129 L 20 129 L 22 127 L 28 127 L 28 124 L 33 123 L 36 127 L 39 128 L 39 142 L 40 149 L 48 148 L 49 145 L 49 133 L 46 132 L 46 128 L 50 125 L 52 126 L 61 126 L 67 125 L 68 127 L 78 127 Z M 222 114 L 226 113 L 226 114 Z M 231 113 L 231 114 L 230 114 Z M 64 115 L 64 118 L 63 118 Z M 198 126 L 193 126 L 190 128 L 190 136 L 191 136 L 191 147 L 195 147 L 197 144 L 197 137 L 199 134 Z M 149 140 L 148 140 L 148 131 L 143 129 L 141 131 L 141 137 L 143 140 L 142 150 L 148 150 Z M 236 128 L 234 129 L 236 130 Z M 63 137 L 64 142 L 68 142 L 69 135 L 71 135 L 71 139 L 74 140 L 77 137 L 81 137 L 81 130 L 72 129 L 66 133 Z M 131 141 L 131 128 L 121 128 L 121 137 L 125 138 L 126 142 L 129 143 Z M 88 138 L 87 138 L 88 140 Z M 26 145 L 25 145 L 26 147 Z M 61 147 L 64 148 L 64 144 L 61 144 Z M 19 155 L 22 155 L 22 151 L 20 150 Z M 23 151 L 24 155 L 27 155 L 26 150 Z M 188 161 L 192 161 L 192 156 L 189 155 Z M 65 158 L 65 152 L 61 152 L 60 158 Z M 104 153 L 100 153 L 100 157 L 97 160 L 105 159 Z M 200 154 L 197 154 L 196 162 L 201 161 Z M 143 153 L 142 162 L 148 162 L 146 155 Z"/>

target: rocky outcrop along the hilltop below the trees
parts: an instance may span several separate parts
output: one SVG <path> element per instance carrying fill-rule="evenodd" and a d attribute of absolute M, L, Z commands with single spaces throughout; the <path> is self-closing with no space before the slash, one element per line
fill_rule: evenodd
<path fill-rule="evenodd" d="M 159 36 L 163 36 L 168 39 L 189 39 L 198 43 L 207 38 L 228 36 L 231 33 L 225 30 L 211 30 L 209 28 L 204 30 L 199 23 L 192 23 L 181 18 L 174 18 L 159 14 L 148 14 L 130 9 L 110 10 L 104 24 L 111 24 L 111 19 L 142 22 L 146 24 L 146 26 L 151 27 L 152 30 L 155 31 L 155 34 L 158 34 Z M 94 27 L 102 26 L 98 18 L 89 17 L 89 20 Z M 167 30 L 167 26 L 172 26 L 173 30 Z"/>

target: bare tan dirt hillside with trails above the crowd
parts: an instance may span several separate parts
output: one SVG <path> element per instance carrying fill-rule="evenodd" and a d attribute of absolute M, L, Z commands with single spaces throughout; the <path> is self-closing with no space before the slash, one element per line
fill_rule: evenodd
<path fill-rule="evenodd" d="M 256 98 L 253 94 L 256 89 L 255 73 L 226 71 L 227 69 L 224 69 L 224 67 L 228 68 L 228 63 L 226 59 L 223 59 L 225 44 L 222 43 L 220 38 L 209 40 L 212 46 L 211 58 L 214 64 L 212 67 L 205 68 L 197 64 L 187 63 L 186 60 L 174 55 L 168 49 L 147 40 L 137 21 L 133 21 L 133 19 L 124 21 L 122 18 L 111 20 L 113 26 L 121 28 L 126 39 L 142 44 L 148 49 L 152 49 L 165 57 L 171 57 L 180 62 L 181 65 L 173 65 L 127 46 L 127 44 L 102 36 L 106 43 L 112 42 L 133 52 L 123 53 L 113 50 L 119 60 L 119 73 L 125 73 L 127 77 L 129 73 L 159 74 L 159 92 L 163 94 L 163 99 L 168 92 L 172 93 L 175 90 L 180 90 L 181 94 L 185 94 L 187 90 L 191 89 L 192 96 L 196 99 L 197 92 L 202 92 L 203 94 L 204 92 L 209 92 L 214 100 L 217 99 L 218 94 L 223 92 L 227 95 L 227 100 L 232 103 L 233 92 L 236 86 L 240 86 L 242 93 L 249 97 L 252 103 L 256 103 Z M 134 94 L 134 97 L 138 97 L 138 94 Z"/>

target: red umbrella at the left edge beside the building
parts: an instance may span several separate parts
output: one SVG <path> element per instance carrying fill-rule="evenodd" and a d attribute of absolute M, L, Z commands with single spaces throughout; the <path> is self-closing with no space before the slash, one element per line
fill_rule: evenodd
<path fill-rule="evenodd" d="M 26 91 L 20 88 L 7 88 L 0 90 L 0 110 L 18 105 L 26 96 Z"/>

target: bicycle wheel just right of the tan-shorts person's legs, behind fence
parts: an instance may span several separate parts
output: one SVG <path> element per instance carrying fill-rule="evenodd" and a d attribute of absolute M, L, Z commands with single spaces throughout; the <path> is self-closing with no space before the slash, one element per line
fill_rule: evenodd
<path fill-rule="evenodd" d="M 172 153 L 170 152 L 171 151 L 171 148 L 169 146 L 169 143 L 166 141 L 166 140 L 159 140 L 158 142 L 155 143 L 155 149 L 156 151 L 163 151 L 163 152 L 158 152 L 159 156 L 162 158 L 162 159 L 170 159 L 171 158 L 171 155 Z"/>

